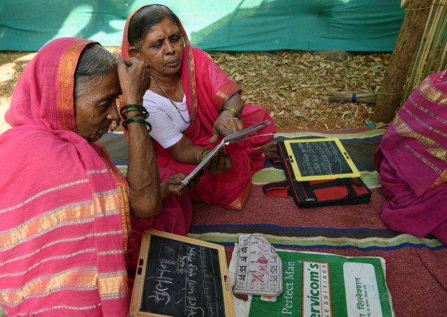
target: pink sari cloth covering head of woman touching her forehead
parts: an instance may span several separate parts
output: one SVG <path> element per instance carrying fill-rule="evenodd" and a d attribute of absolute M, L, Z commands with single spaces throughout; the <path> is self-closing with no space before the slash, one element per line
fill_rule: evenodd
<path fill-rule="evenodd" d="M 10 126 L 31 124 L 53 131 L 76 132 L 74 73 L 82 50 L 90 43 L 94 42 L 58 38 L 42 47 L 17 82 L 11 107 L 5 115 Z"/>

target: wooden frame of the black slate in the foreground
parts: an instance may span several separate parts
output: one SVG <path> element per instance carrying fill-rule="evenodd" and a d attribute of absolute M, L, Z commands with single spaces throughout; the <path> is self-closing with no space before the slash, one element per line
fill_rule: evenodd
<path fill-rule="evenodd" d="M 166 317 L 170 315 L 149 313 L 141 311 L 142 295 L 144 290 L 145 274 L 147 265 L 150 263 L 150 259 L 147 260 L 149 255 L 149 248 L 152 236 L 164 237 L 167 239 L 174 239 L 179 242 L 188 244 L 195 244 L 197 246 L 205 246 L 206 248 L 215 249 L 219 253 L 219 268 L 221 272 L 221 287 L 223 291 L 223 304 L 225 309 L 225 316 L 234 317 L 233 297 L 231 294 L 230 277 L 228 274 L 228 265 L 226 263 L 225 248 L 219 244 L 211 242 L 205 242 L 190 237 L 183 237 L 181 235 L 174 235 L 172 233 L 164 233 L 159 230 L 146 230 L 142 236 L 140 256 L 138 258 L 138 266 L 135 274 L 135 283 L 133 285 L 133 292 L 131 298 L 131 306 L 129 310 L 129 316 L 131 317 Z"/>

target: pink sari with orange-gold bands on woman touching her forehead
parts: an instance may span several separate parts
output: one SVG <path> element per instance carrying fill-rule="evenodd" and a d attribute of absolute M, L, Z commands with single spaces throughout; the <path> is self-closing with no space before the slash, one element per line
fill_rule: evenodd
<path fill-rule="evenodd" d="M 126 316 L 126 257 L 135 261 L 140 231 L 189 228 L 191 206 L 180 215 L 183 202 L 171 199 L 160 216 L 135 219 L 131 232 L 124 175 L 103 146 L 76 133 L 74 72 L 89 43 L 45 45 L 5 116 L 12 128 L 0 135 L 0 306 L 8 316 Z"/>

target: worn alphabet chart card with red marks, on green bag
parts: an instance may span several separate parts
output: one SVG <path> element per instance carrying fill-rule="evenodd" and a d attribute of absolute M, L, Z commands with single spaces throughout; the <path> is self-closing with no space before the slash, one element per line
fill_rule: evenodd
<path fill-rule="evenodd" d="M 281 258 L 263 235 L 239 237 L 236 270 L 235 294 L 281 295 Z"/>

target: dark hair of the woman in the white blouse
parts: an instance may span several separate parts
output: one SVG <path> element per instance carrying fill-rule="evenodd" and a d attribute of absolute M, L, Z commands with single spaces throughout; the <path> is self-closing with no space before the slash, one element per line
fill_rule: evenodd
<path fill-rule="evenodd" d="M 147 31 L 154 27 L 155 24 L 161 22 L 165 17 L 168 17 L 180 29 L 179 18 L 167 6 L 152 4 L 138 10 L 129 22 L 129 29 L 127 31 L 129 44 L 140 51 L 142 40 L 147 34 Z"/>

